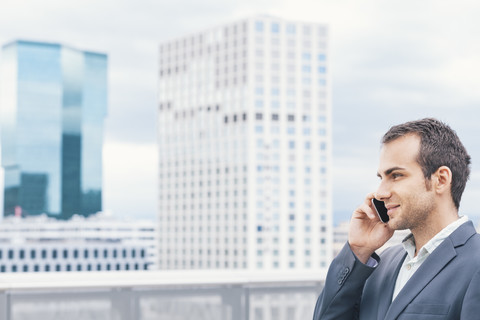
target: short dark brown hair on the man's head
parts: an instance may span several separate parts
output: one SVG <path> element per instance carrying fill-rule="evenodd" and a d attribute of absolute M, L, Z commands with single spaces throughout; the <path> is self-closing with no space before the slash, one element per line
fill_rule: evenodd
<path fill-rule="evenodd" d="M 470 156 L 455 131 L 437 119 L 425 118 L 391 127 L 383 136 L 382 144 L 407 134 L 416 134 L 420 137 L 417 162 L 428 181 L 441 166 L 450 168 L 452 171 L 450 191 L 458 210 L 470 175 Z"/>

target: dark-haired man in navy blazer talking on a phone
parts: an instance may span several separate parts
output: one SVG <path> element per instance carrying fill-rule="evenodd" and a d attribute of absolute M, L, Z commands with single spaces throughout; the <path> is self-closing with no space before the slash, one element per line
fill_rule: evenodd
<path fill-rule="evenodd" d="M 392 127 L 382 139 L 375 193 L 354 212 L 314 320 L 480 319 L 480 235 L 458 216 L 470 156 L 435 119 Z M 382 223 L 371 200 L 384 201 Z M 375 250 L 395 230 L 402 245 Z"/>

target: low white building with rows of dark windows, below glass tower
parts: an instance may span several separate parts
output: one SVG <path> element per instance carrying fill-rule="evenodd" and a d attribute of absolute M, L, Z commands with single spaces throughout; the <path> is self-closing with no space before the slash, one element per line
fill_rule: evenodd
<path fill-rule="evenodd" d="M 0 223 L 0 272 L 156 269 L 157 241 L 149 221 L 10 216 Z"/>

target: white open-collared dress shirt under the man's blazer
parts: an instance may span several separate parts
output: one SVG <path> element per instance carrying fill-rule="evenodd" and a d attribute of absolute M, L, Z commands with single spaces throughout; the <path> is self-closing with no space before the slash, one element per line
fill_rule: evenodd
<path fill-rule="evenodd" d="M 415 239 L 413 234 L 409 234 L 402 242 L 407 256 L 403 261 L 403 265 L 398 273 L 397 281 L 395 282 L 395 290 L 393 291 L 392 301 L 395 300 L 398 293 L 405 286 L 407 281 L 412 277 L 415 271 L 422 265 L 425 259 L 445 240 L 453 231 L 468 221 L 467 216 L 462 216 L 456 221 L 450 223 L 437 233 L 430 241 L 420 248 L 418 254 L 415 256 Z"/>

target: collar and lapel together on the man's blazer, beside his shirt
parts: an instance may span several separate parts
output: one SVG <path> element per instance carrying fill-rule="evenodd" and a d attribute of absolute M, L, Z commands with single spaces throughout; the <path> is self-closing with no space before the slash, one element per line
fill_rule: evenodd
<path fill-rule="evenodd" d="M 458 227 L 457 230 L 445 239 L 407 281 L 398 296 L 391 303 L 385 319 L 396 319 L 445 265 L 455 258 L 457 255 L 455 248 L 465 244 L 475 233 L 473 223 L 468 221 Z M 396 270 L 395 275 L 398 275 L 398 270 Z M 394 284 L 395 279 L 392 280 Z"/>

